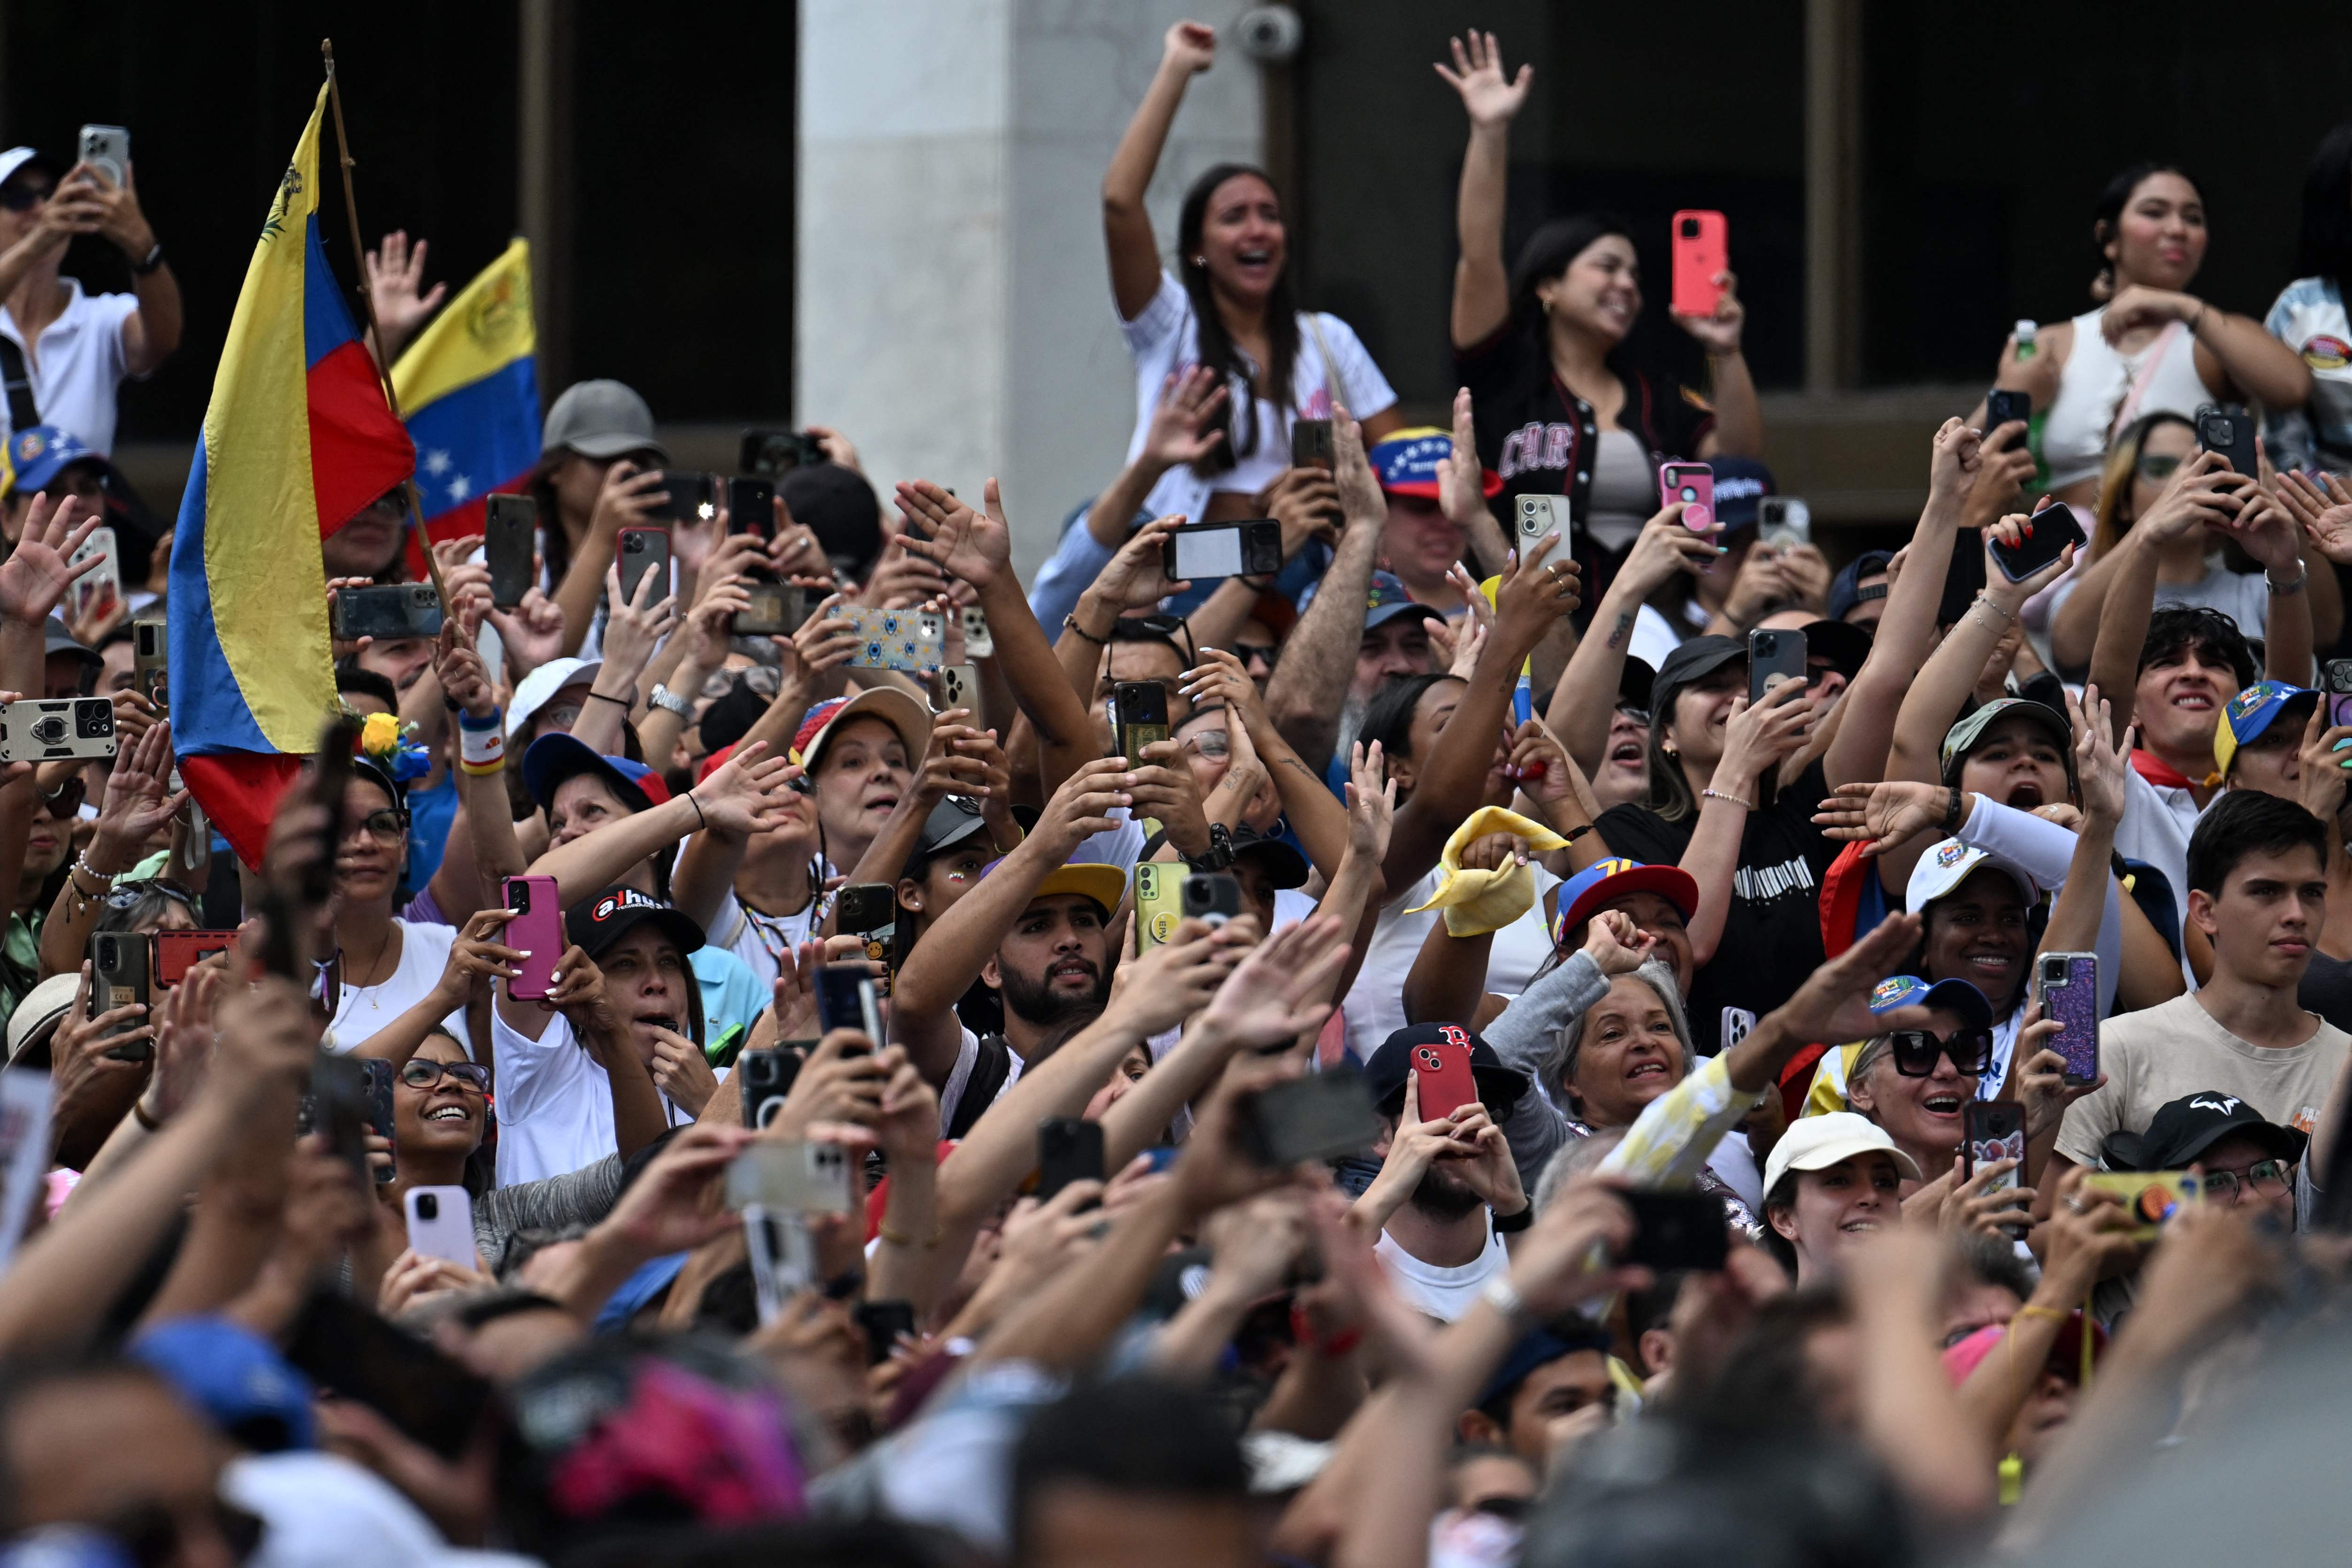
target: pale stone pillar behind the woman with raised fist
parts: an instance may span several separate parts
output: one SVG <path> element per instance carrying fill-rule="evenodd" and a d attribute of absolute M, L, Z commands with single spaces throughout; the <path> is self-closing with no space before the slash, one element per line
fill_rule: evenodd
<path fill-rule="evenodd" d="M 795 397 L 887 494 L 997 475 L 1033 571 L 1127 454 L 1134 371 L 1101 183 L 1181 16 L 1240 0 L 802 0 Z M 1221 49 L 1152 183 L 1162 254 L 1192 176 L 1256 160 L 1258 66 Z"/>

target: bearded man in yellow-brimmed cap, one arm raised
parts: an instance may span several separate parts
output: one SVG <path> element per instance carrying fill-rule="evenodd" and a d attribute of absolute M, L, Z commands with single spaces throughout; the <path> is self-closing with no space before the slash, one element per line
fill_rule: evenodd
<path fill-rule="evenodd" d="M 1077 1020 L 1110 997 L 1110 912 L 1127 891 L 1117 865 L 1070 865 L 1091 835 L 1117 827 L 1134 773 L 1103 757 L 1070 773 L 1021 844 L 990 865 L 922 933 L 891 987 L 891 1041 L 938 1088 L 938 1119 L 960 1138 Z M 1004 1034 L 981 1039 L 955 1001 L 981 980 L 1004 999 Z"/>

